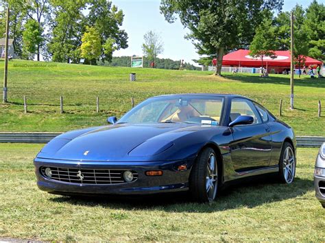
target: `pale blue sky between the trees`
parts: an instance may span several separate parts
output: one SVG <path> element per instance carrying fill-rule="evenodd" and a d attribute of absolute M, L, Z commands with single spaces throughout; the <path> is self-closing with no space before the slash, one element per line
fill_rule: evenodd
<path fill-rule="evenodd" d="M 297 3 L 306 8 L 311 1 L 313 0 L 285 0 L 282 10 L 290 11 Z M 322 1 L 325 0 L 318 0 Z M 191 40 L 184 39 L 189 30 L 184 29 L 179 20 L 168 23 L 163 14 L 160 14 L 160 0 L 112 0 L 112 3 L 123 10 L 125 16 L 122 29 L 129 36 L 128 49 L 115 51 L 114 56 L 143 55 L 143 36 L 147 31 L 153 30 L 160 34 L 164 42 L 164 52 L 158 57 L 184 60 L 192 64 L 191 60 L 199 58 Z"/>

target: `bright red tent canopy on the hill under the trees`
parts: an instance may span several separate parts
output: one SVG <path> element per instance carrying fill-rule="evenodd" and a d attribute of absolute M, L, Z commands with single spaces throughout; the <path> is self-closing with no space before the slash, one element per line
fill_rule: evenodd
<path fill-rule="evenodd" d="M 290 51 L 275 51 L 276 58 L 271 57 L 263 58 L 263 66 L 290 66 Z M 306 57 L 305 65 L 323 65 L 322 62 L 315 60 L 311 57 Z M 243 67 L 260 67 L 262 61 L 260 58 L 254 58 L 250 56 L 249 50 L 240 49 L 232 53 L 224 55 L 222 61 L 224 66 L 243 66 Z"/>

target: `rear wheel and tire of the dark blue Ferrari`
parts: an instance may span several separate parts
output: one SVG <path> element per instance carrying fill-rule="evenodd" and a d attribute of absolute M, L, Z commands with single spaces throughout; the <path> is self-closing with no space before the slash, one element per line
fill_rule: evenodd
<path fill-rule="evenodd" d="M 285 142 L 282 146 L 282 151 L 279 159 L 278 180 L 280 183 L 291 184 L 295 178 L 295 175 L 296 156 L 293 150 L 293 146 L 289 142 Z"/>

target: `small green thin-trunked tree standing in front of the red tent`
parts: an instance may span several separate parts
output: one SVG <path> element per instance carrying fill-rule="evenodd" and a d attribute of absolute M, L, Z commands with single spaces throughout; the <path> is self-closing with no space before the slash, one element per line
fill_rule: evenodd
<path fill-rule="evenodd" d="M 261 25 L 256 29 L 256 34 L 252 43 L 250 44 L 250 55 L 252 57 L 260 58 L 262 62 L 262 76 L 264 76 L 263 59 L 265 57 L 275 58 L 274 49 L 274 27 L 272 26 L 272 19 L 265 18 Z"/>

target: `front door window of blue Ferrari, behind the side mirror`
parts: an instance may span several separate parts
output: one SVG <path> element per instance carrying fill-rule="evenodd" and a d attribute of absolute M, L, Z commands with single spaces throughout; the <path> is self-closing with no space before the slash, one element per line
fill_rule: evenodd
<path fill-rule="evenodd" d="M 234 121 L 238 116 L 252 116 L 254 123 L 262 123 L 260 116 L 251 101 L 246 99 L 235 98 L 231 101 L 230 122 Z"/>

